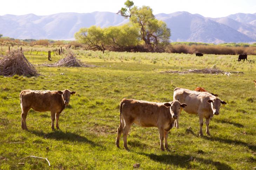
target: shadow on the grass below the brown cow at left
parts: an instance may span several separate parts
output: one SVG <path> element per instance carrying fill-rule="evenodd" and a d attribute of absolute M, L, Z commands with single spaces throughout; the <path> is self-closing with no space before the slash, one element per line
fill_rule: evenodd
<path fill-rule="evenodd" d="M 85 142 L 85 143 L 89 143 L 92 146 L 102 147 L 101 145 L 87 139 L 86 137 L 72 133 L 72 132 L 63 132 L 61 130 L 57 130 L 49 133 L 44 133 L 43 131 L 37 131 L 37 130 L 31 130 L 29 132 L 32 132 L 33 134 L 45 139 L 67 140 L 71 142 Z"/>

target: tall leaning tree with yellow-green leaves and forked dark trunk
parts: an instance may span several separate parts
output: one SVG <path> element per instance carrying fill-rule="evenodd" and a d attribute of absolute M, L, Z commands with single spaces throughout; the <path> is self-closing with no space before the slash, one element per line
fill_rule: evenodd
<path fill-rule="evenodd" d="M 134 3 L 130 0 L 127 0 L 124 5 L 125 8 L 121 8 L 117 14 L 126 18 L 129 17 L 130 22 L 139 24 L 140 37 L 146 45 L 153 48 L 157 46 L 159 42 L 169 42 L 171 35 L 170 29 L 165 22 L 155 19 L 153 10 L 149 6 L 139 8 L 133 6 Z"/>

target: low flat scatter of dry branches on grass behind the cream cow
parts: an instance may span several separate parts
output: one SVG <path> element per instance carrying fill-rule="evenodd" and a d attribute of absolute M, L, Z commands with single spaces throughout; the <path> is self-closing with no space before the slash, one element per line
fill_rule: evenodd
<path fill-rule="evenodd" d="M 243 72 L 225 72 L 218 68 L 204 68 L 204 69 L 183 69 L 181 71 L 165 71 L 160 73 L 178 73 L 178 74 L 187 74 L 187 73 L 201 73 L 201 74 L 225 74 L 227 76 L 236 74 L 244 74 Z"/>

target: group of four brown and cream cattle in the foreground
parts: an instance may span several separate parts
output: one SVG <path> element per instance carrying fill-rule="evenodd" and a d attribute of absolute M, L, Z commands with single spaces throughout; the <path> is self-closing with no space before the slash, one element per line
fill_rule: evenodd
<path fill-rule="evenodd" d="M 39 112 L 51 112 L 52 129 L 56 118 L 56 128 L 59 128 L 59 116 L 65 106 L 68 105 L 70 95 L 75 91 L 40 91 L 22 90 L 20 93 L 21 105 L 21 128 L 27 130 L 26 117 L 32 108 Z M 206 133 L 209 132 L 210 119 L 220 113 L 221 104 L 227 104 L 218 95 L 207 92 L 202 87 L 195 90 L 175 88 L 173 101 L 167 103 L 155 103 L 135 99 L 122 99 L 120 103 L 120 125 L 117 129 L 116 147 L 119 147 L 121 134 L 123 134 L 123 145 L 127 147 L 127 135 L 133 123 L 142 127 L 157 127 L 159 130 L 160 149 L 168 150 L 168 131 L 176 126 L 180 113 L 184 110 L 190 114 L 197 114 L 200 123 L 199 135 L 202 136 L 203 118 L 206 119 Z M 164 146 L 163 146 L 164 140 Z"/>

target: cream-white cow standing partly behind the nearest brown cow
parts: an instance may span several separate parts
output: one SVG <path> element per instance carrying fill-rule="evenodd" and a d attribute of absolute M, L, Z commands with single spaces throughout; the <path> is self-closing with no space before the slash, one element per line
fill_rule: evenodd
<path fill-rule="evenodd" d="M 227 104 L 226 102 L 207 92 L 198 92 L 184 88 L 175 88 L 173 99 L 179 101 L 180 103 L 187 104 L 187 107 L 184 108 L 185 112 L 190 114 L 198 114 L 200 123 L 200 136 L 203 135 L 203 118 L 206 119 L 206 133 L 207 135 L 210 135 L 210 118 L 212 118 L 214 114 L 220 114 L 221 104 Z M 182 109 L 180 110 L 180 112 L 181 111 Z M 178 116 L 179 115 L 180 113 L 178 114 Z"/>

